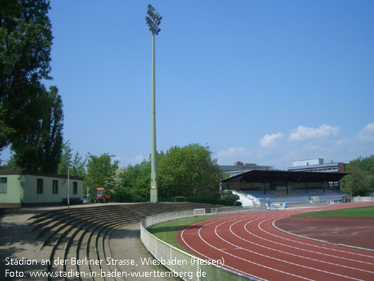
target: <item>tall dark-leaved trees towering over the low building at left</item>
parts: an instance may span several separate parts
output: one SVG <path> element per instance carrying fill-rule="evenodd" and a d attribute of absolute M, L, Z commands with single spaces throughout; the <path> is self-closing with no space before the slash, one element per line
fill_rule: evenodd
<path fill-rule="evenodd" d="M 62 144 L 61 98 L 42 84 L 52 79 L 48 9 L 46 0 L 0 0 L 0 151 L 11 144 L 35 171 L 56 170 Z"/>

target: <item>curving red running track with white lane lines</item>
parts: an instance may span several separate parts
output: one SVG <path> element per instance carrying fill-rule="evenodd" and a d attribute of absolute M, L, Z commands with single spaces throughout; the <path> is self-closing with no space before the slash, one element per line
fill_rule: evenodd
<path fill-rule="evenodd" d="M 224 267 L 257 280 L 374 280 L 374 251 L 313 241 L 273 226 L 292 214 L 366 205 L 374 202 L 233 214 L 187 226 L 177 239 L 195 256 L 223 259 Z"/>

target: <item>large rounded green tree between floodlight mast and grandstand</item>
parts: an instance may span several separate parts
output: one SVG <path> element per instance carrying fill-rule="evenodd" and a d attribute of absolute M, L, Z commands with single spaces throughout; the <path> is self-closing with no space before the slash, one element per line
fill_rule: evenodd
<path fill-rule="evenodd" d="M 158 188 L 163 197 L 218 197 L 222 178 L 209 147 L 189 144 L 172 147 L 158 160 Z"/>

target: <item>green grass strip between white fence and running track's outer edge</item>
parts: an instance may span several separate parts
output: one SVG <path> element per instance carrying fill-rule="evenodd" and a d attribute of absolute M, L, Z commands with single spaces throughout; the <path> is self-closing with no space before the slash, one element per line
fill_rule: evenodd
<path fill-rule="evenodd" d="M 148 231 L 156 236 L 158 239 L 169 243 L 175 248 L 179 248 L 180 250 L 184 250 L 180 243 L 177 241 L 177 232 L 180 231 L 185 226 L 189 226 L 190 224 L 194 224 L 196 222 L 203 222 L 208 219 L 216 219 L 217 217 L 189 217 L 187 219 L 177 219 L 175 221 L 170 222 L 163 222 L 160 224 L 155 224 L 153 226 L 148 227 Z"/>

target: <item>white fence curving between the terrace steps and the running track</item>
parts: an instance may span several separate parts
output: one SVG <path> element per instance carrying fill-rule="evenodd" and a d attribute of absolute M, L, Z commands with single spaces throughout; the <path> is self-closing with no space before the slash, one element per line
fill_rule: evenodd
<path fill-rule="evenodd" d="M 203 209 L 204 210 L 204 209 Z M 182 212 L 170 212 L 165 214 L 158 214 L 152 217 L 143 219 L 140 223 L 140 238 L 146 246 L 147 250 L 154 256 L 158 263 L 164 265 L 170 270 L 170 275 L 173 277 L 180 277 L 182 280 L 256 280 L 246 275 L 236 273 L 228 268 L 223 268 L 220 265 L 206 264 L 207 260 L 202 260 L 195 256 L 185 253 L 178 248 L 175 248 L 164 241 L 156 238 L 150 234 L 146 228 L 153 224 L 160 222 L 168 222 L 174 219 L 183 219 L 187 217 L 194 217 L 197 214 L 202 214 L 202 210 L 188 210 Z M 205 214 L 205 210 L 204 210 Z"/>

